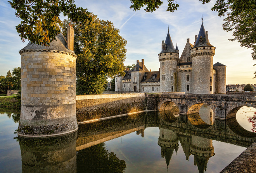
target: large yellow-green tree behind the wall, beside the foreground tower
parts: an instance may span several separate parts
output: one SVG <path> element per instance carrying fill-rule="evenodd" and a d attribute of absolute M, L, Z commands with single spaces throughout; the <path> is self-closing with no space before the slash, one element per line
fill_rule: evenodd
<path fill-rule="evenodd" d="M 92 23 L 74 25 L 74 53 L 76 59 L 76 92 L 78 94 L 100 94 L 104 91 L 107 77 L 124 73 L 123 61 L 126 40 L 112 22 L 100 20 L 90 14 Z M 67 20 L 62 28 L 66 36 Z"/>

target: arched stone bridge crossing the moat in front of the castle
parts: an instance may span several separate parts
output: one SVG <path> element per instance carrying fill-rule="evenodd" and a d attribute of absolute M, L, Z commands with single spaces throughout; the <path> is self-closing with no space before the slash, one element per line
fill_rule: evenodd
<path fill-rule="evenodd" d="M 214 111 L 215 119 L 235 117 L 243 106 L 256 108 L 256 96 L 251 95 L 146 93 L 145 99 L 147 110 L 167 110 L 175 104 L 183 115 L 198 112 L 198 108 L 205 104 Z"/>

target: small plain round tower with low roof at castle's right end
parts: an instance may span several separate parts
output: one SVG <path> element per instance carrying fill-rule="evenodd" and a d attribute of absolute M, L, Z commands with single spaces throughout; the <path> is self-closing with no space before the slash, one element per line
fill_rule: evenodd
<path fill-rule="evenodd" d="M 221 63 L 213 65 L 216 70 L 216 94 L 226 94 L 226 66 Z"/>

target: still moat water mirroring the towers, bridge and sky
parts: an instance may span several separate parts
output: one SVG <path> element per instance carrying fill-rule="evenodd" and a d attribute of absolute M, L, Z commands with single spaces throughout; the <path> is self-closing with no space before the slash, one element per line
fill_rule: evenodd
<path fill-rule="evenodd" d="M 256 136 L 244 118 L 249 111 L 223 121 L 207 109 L 188 116 L 176 109 L 134 114 L 43 139 L 17 138 L 19 111 L 0 109 L 0 172 L 217 173 Z"/>

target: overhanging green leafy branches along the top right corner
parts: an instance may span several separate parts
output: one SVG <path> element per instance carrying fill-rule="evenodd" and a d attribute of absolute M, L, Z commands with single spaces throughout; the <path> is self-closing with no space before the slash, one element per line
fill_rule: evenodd
<path fill-rule="evenodd" d="M 203 4 L 211 0 L 199 0 Z M 176 0 L 168 0 L 168 8 L 166 11 L 174 12 L 179 5 Z M 133 10 L 140 10 L 146 5 L 144 9 L 146 12 L 153 12 L 156 8 L 162 5 L 161 0 L 131 0 L 133 5 L 130 6 Z M 255 0 L 216 0 L 211 10 L 218 12 L 219 16 L 227 17 L 223 19 L 225 23 L 222 25 L 224 31 L 233 31 L 234 39 L 237 40 L 241 46 L 251 48 L 253 50 L 252 58 L 256 60 L 256 2 Z M 255 66 L 256 64 L 254 64 Z M 256 78 L 256 72 L 254 73 Z"/>

